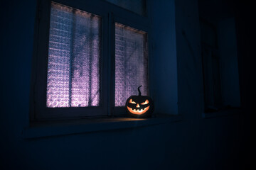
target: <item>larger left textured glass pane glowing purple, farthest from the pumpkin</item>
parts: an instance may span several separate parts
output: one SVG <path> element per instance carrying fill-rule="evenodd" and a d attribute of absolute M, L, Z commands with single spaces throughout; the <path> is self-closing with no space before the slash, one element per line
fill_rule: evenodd
<path fill-rule="evenodd" d="M 100 18 L 52 2 L 47 107 L 100 105 Z"/>

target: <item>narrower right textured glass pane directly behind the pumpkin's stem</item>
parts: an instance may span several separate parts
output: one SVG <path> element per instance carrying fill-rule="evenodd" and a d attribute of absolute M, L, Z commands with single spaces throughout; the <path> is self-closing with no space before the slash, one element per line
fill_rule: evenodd
<path fill-rule="evenodd" d="M 129 96 L 148 94 L 146 33 L 115 24 L 115 106 L 124 106 Z"/>

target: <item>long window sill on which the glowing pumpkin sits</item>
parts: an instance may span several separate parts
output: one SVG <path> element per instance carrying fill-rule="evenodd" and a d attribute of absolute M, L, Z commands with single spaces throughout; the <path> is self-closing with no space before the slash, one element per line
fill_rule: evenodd
<path fill-rule="evenodd" d="M 106 130 L 120 130 L 139 128 L 150 125 L 160 125 L 181 121 L 181 115 L 157 115 L 155 118 L 95 118 L 80 120 L 58 120 L 48 123 L 33 123 L 31 127 L 24 128 L 24 139 L 38 137 L 53 137 L 60 135 L 75 135 L 87 132 L 99 132 Z"/>

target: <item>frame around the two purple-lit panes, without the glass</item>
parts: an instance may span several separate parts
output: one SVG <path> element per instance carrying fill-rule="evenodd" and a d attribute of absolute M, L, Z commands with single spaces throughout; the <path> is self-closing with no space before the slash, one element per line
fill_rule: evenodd
<path fill-rule="evenodd" d="M 101 103 L 98 107 L 85 108 L 47 108 L 46 82 L 48 64 L 48 42 L 50 28 L 51 1 L 38 1 L 36 14 L 33 66 L 31 79 L 31 120 L 74 119 L 87 117 L 107 117 L 125 115 L 124 107 L 114 107 L 114 23 L 142 30 L 148 35 L 149 85 L 151 72 L 151 21 L 150 1 L 146 1 L 146 16 L 140 16 L 107 1 L 55 0 L 58 4 L 78 8 L 101 17 L 102 26 L 102 65 L 101 65 Z M 153 87 L 149 88 L 149 96 Z"/>

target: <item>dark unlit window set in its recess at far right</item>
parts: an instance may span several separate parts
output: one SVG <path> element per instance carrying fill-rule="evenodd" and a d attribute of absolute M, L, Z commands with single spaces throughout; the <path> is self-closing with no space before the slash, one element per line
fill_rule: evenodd
<path fill-rule="evenodd" d="M 240 107 L 235 20 L 201 19 L 205 112 Z"/>

